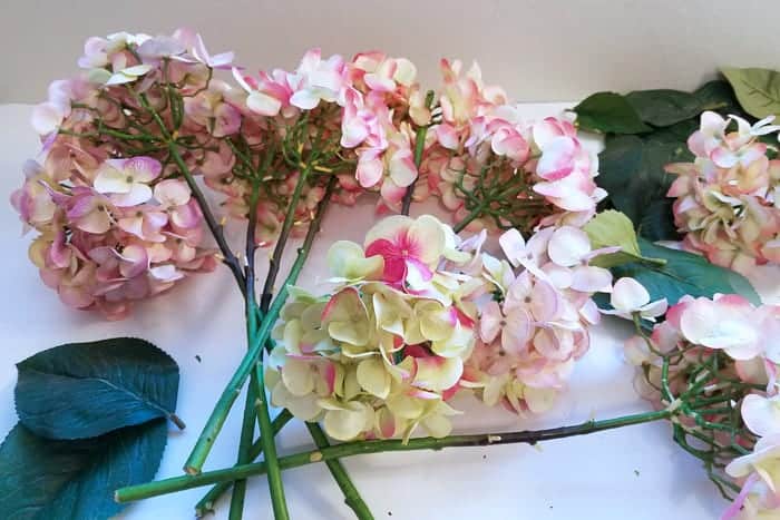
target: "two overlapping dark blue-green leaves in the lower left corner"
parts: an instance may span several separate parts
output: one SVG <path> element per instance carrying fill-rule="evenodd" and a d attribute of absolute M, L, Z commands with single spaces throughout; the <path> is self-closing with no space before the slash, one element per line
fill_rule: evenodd
<path fill-rule="evenodd" d="M 0 445 L 0 518 L 105 519 L 114 490 L 154 478 L 178 366 L 150 343 L 71 343 L 17 364 L 19 423 Z"/>

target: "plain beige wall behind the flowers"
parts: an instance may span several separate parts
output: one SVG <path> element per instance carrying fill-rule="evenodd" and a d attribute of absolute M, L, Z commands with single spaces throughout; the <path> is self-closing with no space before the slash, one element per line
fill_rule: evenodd
<path fill-rule="evenodd" d="M 517 100 L 695 87 L 718 65 L 780 67 L 780 3 L 760 0 L 0 0 L 0 102 L 35 101 L 87 36 L 203 32 L 250 69 L 304 49 L 407 56 L 427 82 L 441 56 L 477 59 Z"/>

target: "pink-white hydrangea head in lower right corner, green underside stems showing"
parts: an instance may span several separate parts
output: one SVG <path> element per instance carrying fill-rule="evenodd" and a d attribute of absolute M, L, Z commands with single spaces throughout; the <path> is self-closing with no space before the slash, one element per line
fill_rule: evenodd
<path fill-rule="evenodd" d="M 780 306 L 684 296 L 652 335 L 626 343 L 642 393 L 680 413 L 675 441 L 734 499 L 725 519 L 780 512 L 778 331 Z"/>

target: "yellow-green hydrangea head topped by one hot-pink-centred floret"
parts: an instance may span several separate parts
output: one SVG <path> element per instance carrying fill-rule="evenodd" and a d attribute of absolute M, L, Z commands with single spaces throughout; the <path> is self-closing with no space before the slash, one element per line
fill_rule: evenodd
<path fill-rule="evenodd" d="M 418 425 L 447 435 L 476 310 L 469 277 L 443 267 L 471 256 L 431 216 L 388 217 L 364 247 L 333 244 L 333 294 L 295 291 L 282 312 L 266 375 L 273 403 L 323 419 L 339 440 L 408 439 Z"/>

